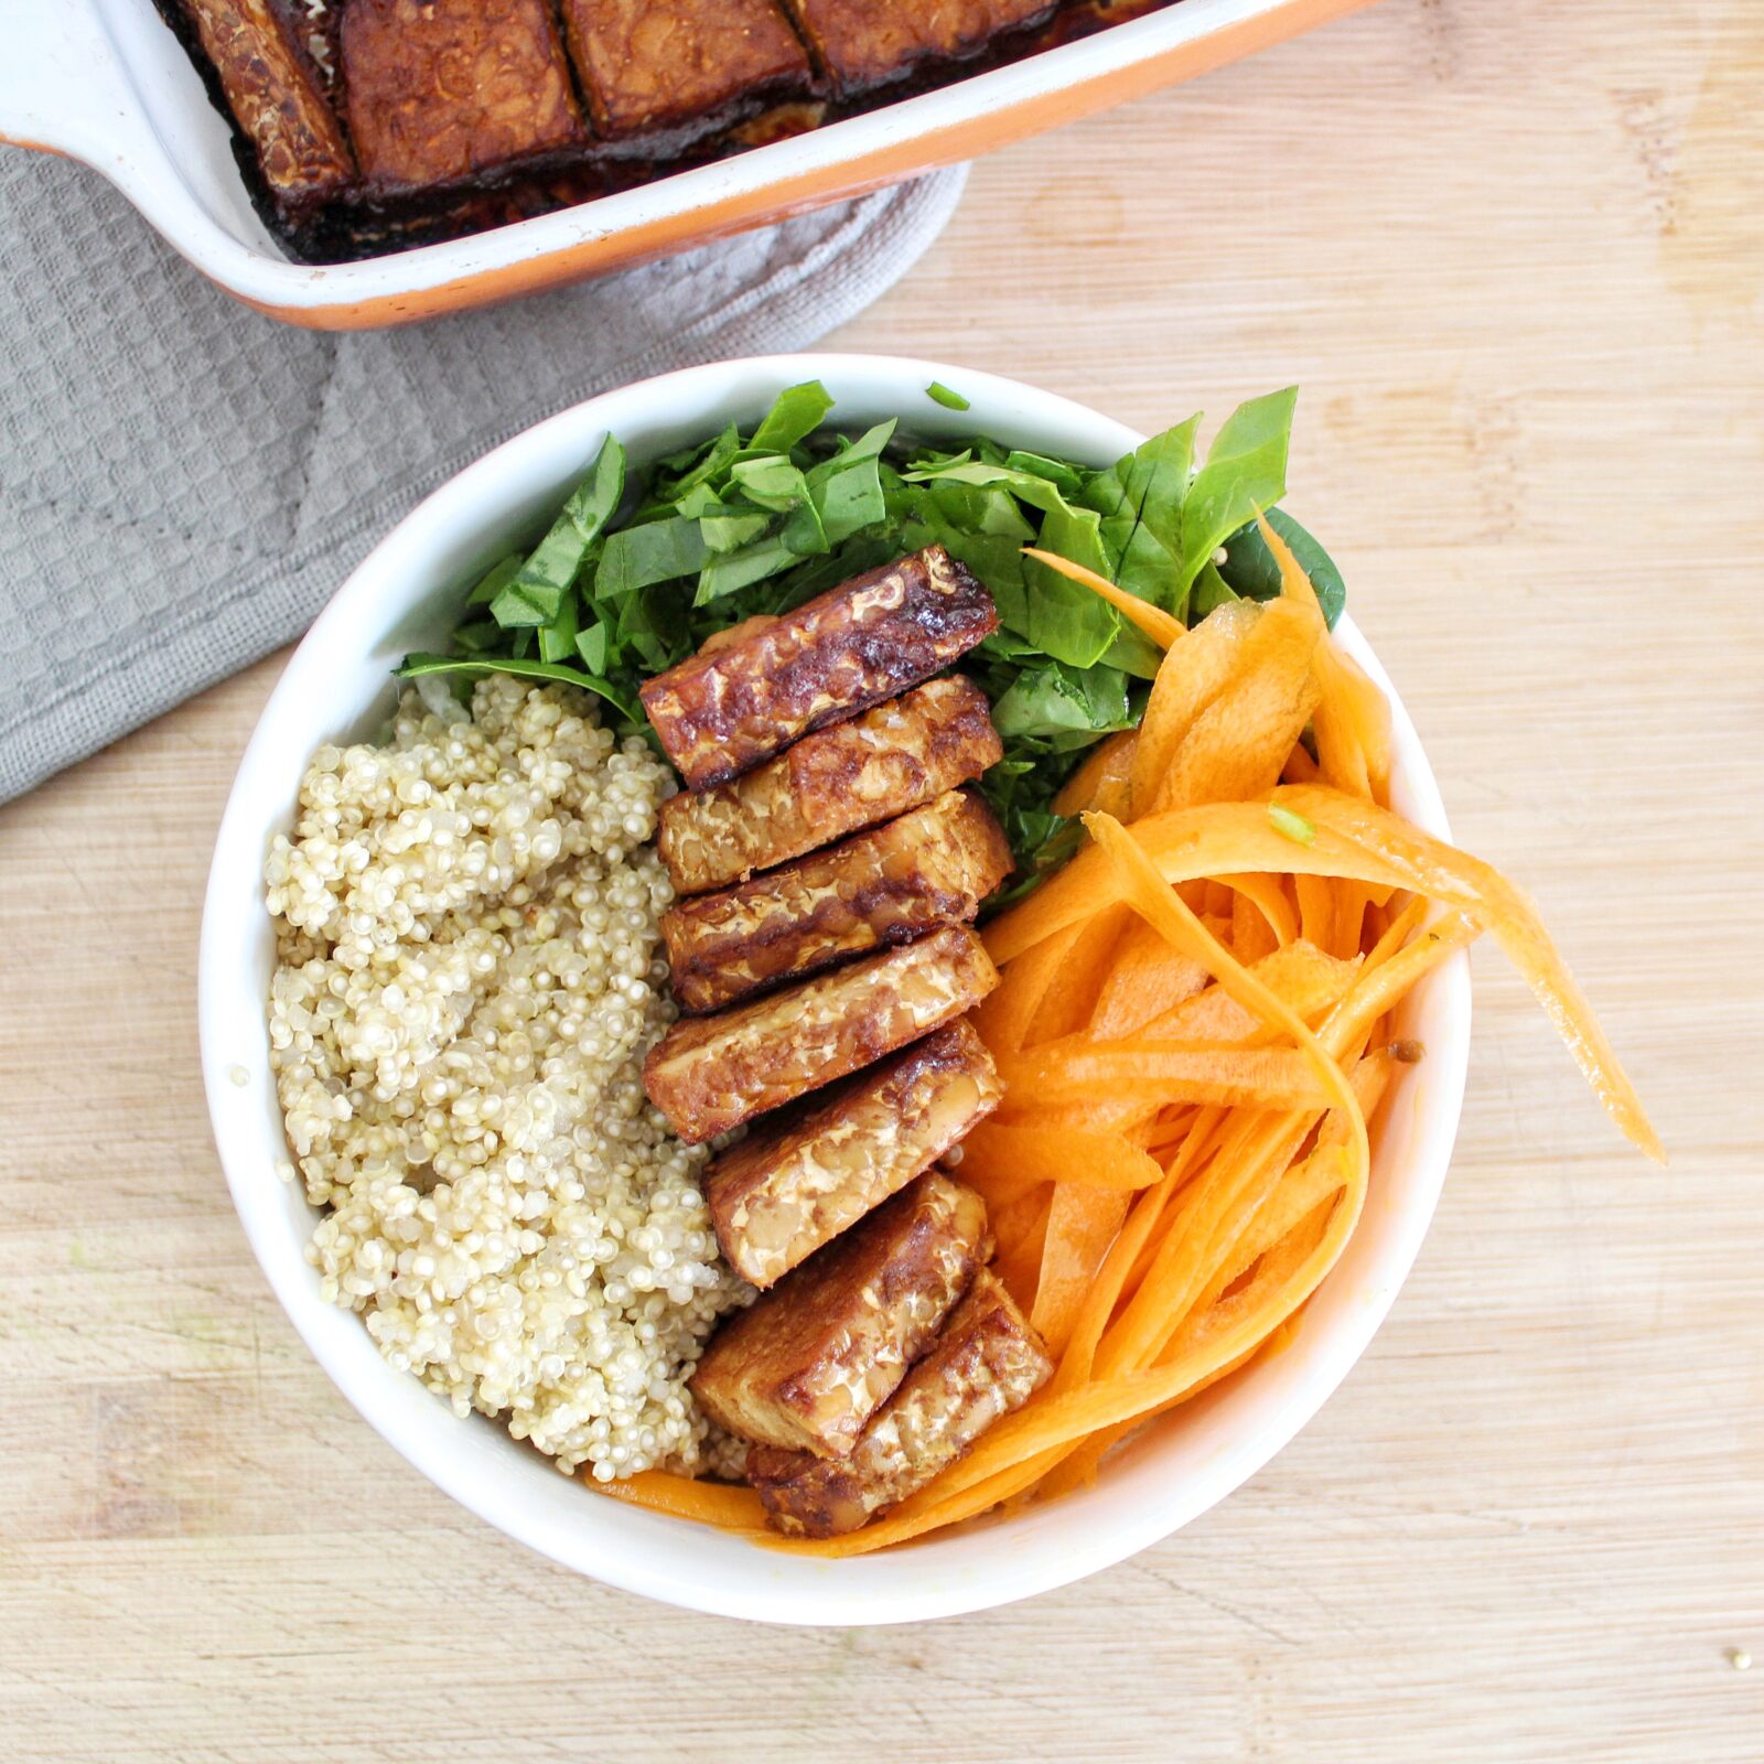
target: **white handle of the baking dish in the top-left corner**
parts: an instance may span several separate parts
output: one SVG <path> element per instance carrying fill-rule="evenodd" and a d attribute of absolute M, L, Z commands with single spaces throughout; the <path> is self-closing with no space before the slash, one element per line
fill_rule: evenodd
<path fill-rule="evenodd" d="M 0 141 L 111 178 L 157 146 L 93 0 L 0 0 Z"/>

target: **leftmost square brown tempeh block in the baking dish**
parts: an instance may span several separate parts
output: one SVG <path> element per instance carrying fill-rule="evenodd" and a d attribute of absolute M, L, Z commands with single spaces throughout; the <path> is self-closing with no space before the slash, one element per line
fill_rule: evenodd
<path fill-rule="evenodd" d="M 362 175 L 427 191 L 587 143 L 549 0 L 351 0 L 342 76 Z"/>

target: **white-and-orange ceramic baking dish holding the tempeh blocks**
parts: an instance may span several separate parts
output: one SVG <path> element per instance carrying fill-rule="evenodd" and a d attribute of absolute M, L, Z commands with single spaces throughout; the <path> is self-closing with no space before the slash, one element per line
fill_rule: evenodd
<path fill-rule="evenodd" d="M 582 280 L 1071 122 L 1367 0 L 1178 0 L 884 109 L 445 245 L 289 263 L 152 0 L 0 0 L 0 139 L 102 171 L 203 275 L 293 325 L 399 325 Z"/>

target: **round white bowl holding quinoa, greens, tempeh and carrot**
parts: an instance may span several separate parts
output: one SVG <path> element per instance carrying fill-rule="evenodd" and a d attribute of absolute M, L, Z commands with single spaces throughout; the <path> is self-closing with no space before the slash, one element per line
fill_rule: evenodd
<path fill-rule="evenodd" d="M 203 1076 L 220 1162 L 245 1235 L 319 1365 L 406 1459 L 510 1536 L 598 1581 L 676 1605 L 774 1623 L 907 1623 L 1002 1605 L 1122 1561 L 1252 1476 L 1318 1411 L 1365 1351 L 1420 1249 L 1445 1180 L 1469 1053 L 1462 956 L 1418 986 L 1402 1032 L 1427 1046 L 1385 1106 L 1365 1214 L 1291 1346 L 1173 1411 L 1120 1452 L 1095 1487 L 1004 1522 L 850 1561 L 817 1561 L 603 1499 L 494 1422 L 455 1420 L 395 1372 L 362 1319 L 319 1298 L 305 1261 L 314 1212 L 277 1177 L 288 1157 L 265 1023 L 273 938 L 263 908 L 268 840 L 286 829 L 314 748 L 370 730 L 390 669 L 437 647 L 462 584 L 543 526 L 605 434 L 642 460 L 751 422 L 776 392 L 820 377 L 834 422 L 907 415 L 924 434 L 983 430 L 1043 453 L 1106 464 L 1143 437 L 1065 399 L 990 374 L 884 356 L 799 355 L 665 374 L 589 399 L 485 455 L 407 515 L 337 591 L 295 651 L 240 766 L 215 845 L 198 977 Z M 972 400 L 924 397 L 931 379 Z M 1185 415 L 1173 411 L 1171 415 Z M 1323 512 L 1305 510 L 1328 531 Z M 1390 693 L 1395 806 L 1445 834 L 1420 741 L 1348 619 L 1339 637 Z"/>

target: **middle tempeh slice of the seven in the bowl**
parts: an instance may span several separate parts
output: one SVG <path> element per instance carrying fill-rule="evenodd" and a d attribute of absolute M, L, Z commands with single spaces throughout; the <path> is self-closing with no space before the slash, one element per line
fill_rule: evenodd
<path fill-rule="evenodd" d="M 947 926 L 721 1016 L 684 1018 L 649 1051 L 644 1088 L 697 1145 L 917 1041 L 997 984 L 981 940 Z"/>

